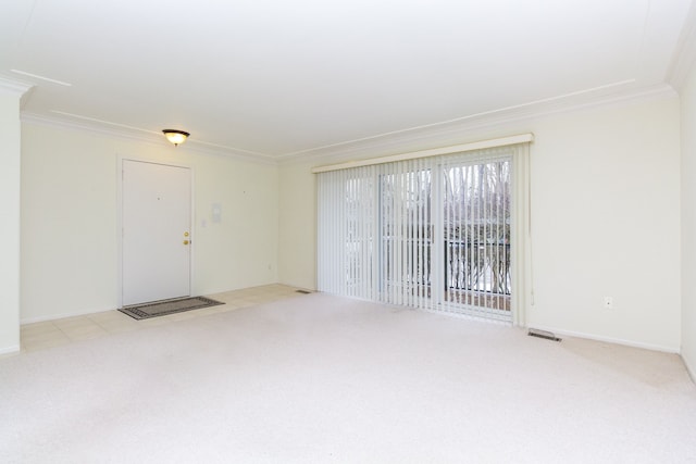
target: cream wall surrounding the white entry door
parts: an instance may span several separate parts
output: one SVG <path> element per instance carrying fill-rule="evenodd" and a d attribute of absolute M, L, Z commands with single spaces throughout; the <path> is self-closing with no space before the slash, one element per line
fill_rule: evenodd
<path fill-rule="evenodd" d="M 150 143 L 24 123 L 23 322 L 117 308 L 119 156 L 194 172 L 194 294 L 277 281 L 277 168 Z M 211 221 L 212 204 L 222 221 Z"/>

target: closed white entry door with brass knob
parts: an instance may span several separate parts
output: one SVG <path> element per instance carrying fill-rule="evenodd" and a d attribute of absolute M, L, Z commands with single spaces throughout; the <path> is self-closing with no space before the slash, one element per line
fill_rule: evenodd
<path fill-rule="evenodd" d="M 124 160 L 122 199 L 122 305 L 190 296 L 190 170 Z"/>

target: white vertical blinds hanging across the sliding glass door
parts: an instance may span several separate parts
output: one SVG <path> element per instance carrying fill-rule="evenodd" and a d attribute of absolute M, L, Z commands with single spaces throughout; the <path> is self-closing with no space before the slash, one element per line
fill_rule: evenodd
<path fill-rule="evenodd" d="M 519 322 L 526 147 L 318 174 L 319 290 Z"/>

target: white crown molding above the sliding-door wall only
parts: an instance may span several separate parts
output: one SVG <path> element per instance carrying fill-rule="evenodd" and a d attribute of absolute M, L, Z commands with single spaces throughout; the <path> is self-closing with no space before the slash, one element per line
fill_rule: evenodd
<path fill-rule="evenodd" d="M 533 120 L 556 114 L 586 111 L 596 108 L 630 104 L 646 100 L 678 98 L 676 91 L 668 84 L 635 88 L 630 86 L 620 91 L 575 92 L 566 97 L 521 104 L 518 106 L 490 111 L 460 118 L 453 122 L 434 124 L 403 130 L 398 134 L 371 137 L 330 147 L 307 150 L 302 153 L 289 153 L 278 156 L 279 164 L 296 164 L 321 160 L 323 163 L 340 162 L 351 156 L 390 155 L 407 151 L 418 151 L 445 145 L 471 141 L 472 131 L 505 130 L 510 124 L 522 125 Z M 604 89 L 607 90 L 607 89 Z M 530 129 L 531 127 L 525 127 Z M 518 128 L 518 130 L 520 130 Z"/>

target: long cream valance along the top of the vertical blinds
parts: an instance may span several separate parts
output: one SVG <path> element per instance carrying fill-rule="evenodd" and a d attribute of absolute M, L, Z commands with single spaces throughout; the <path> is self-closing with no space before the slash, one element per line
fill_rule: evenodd
<path fill-rule="evenodd" d="M 450 147 L 433 148 L 430 150 L 412 151 L 410 153 L 393 154 L 389 156 L 372 158 L 368 160 L 348 161 L 346 163 L 330 164 L 312 168 L 312 174 L 327 173 L 330 171 L 348 170 L 351 167 L 372 166 L 375 164 L 393 163 L 396 161 L 417 160 L 419 158 L 438 156 L 440 154 L 463 153 L 467 151 L 485 150 L 487 148 L 506 147 L 509 145 L 525 143 L 534 140 L 534 134 L 520 134 L 515 136 L 496 139 L 480 140 L 470 143 L 455 145 Z"/>

